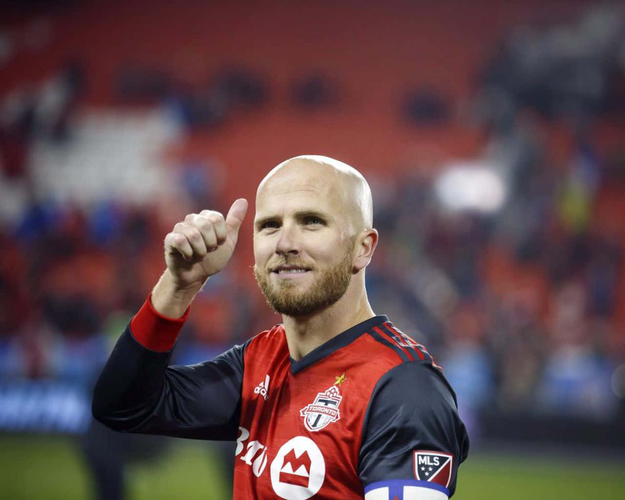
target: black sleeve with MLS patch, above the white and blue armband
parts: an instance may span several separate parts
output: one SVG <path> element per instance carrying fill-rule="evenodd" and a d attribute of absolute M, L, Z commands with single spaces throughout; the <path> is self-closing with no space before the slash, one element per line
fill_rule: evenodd
<path fill-rule="evenodd" d="M 359 476 L 366 492 L 427 487 L 451 497 L 468 451 L 455 394 L 439 369 L 407 362 L 381 377 L 362 429 Z"/>

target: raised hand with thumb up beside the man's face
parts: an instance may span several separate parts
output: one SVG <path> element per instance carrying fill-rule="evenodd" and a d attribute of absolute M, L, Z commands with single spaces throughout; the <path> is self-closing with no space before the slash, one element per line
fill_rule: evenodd
<path fill-rule="evenodd" d="M 189 214 L 165 236 L 165 262 L 179 288 L 201 286 L 226 267 L 246 211 L 246 199 L 239 198 L 226 217 L 212 210 Z"/>

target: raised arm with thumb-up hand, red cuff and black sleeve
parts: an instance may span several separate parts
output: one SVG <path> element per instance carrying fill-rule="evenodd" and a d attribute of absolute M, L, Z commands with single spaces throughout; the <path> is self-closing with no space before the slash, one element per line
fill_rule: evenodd
<path fill-rule="evenodd" d="M 165 238 L 167 269 L 117 342 L 94 391 L 96 419 L 119 431 L 234 439 L 244 347 L 213 361 L 168 367 L 188 307 L 226 266 L 247 209 L 190 214 Z"/>

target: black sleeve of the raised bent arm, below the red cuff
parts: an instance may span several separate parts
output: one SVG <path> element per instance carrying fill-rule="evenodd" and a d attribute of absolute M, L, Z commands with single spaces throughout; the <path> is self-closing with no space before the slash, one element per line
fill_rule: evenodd
<path fill-rule="evenodd" d="M 128 326 L 96 383 L 93 416 L 117 431 L 234 440 L 246 345 L 212 361 L 168 366 L 173 349 L 146 349 Z"/>

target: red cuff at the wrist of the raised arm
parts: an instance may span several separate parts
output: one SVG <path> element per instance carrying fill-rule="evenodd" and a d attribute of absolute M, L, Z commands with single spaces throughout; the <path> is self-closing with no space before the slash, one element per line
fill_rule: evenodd
<path fill-rule="evenodd" d="M 139 312 L 130 321 L 130 331 L 134 339 L 146 349 L 167 352 L 174 347 L 180 329 L 189 317 L 189 307 L 183 317 L 163 316 L 152 305 L 152 294 L 143 303 Z"/>

